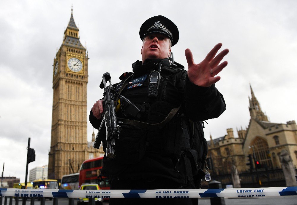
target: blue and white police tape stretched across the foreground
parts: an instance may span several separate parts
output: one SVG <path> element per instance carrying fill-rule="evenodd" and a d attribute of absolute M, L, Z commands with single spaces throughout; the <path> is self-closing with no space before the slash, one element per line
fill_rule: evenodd
<path fill-rule="evenodd" d="M 7 189 L 0 196 L 36 198 L 208 198 L 208 197 L 267 197 L 294 196 L 297 187 L 265 187 L 240 189 L 155 189 L 155 190 L 65 190 L 65 189 Z"/>

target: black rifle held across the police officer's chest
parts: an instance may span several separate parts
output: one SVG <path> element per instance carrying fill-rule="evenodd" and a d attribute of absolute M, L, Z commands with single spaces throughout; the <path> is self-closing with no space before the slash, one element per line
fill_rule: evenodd
<path fill-rule="evenodd" d="M 109 81 L 109 85 L 106 86 L 106 82 Z M 100 84 L 100 88 L 104 88 L 103 93 L 103 117 L 101 124 L 99 126 L 99 130 L 96 136 L 96 140 L 94 142 L 93 147 L 99 149 L 99 146 L 102 141 L 102 134 L 100 133 L 102 124 L 105 123 L 106 128 L 106 157 L 108 159 L 113 159 L 116 157 L 115 151 L 115 139 L 119 139 L 119 134 L 121 132 L 121 121 L 117 121 L 116 118 L 116 108 L 115 108 L 115 100 L 116 97 L 119 97 L 121 102 L 121 111 L 124 116 L 132 116 L 136 118 L 140 118 L 142 111 L 139 110 L 130 100 L 125 98 L 122 95 L 119 95 L 115 90 L 115 87 L 111 84 L 111 77 L 109 73 L 104 73 L 102 76 L 102 82 Z M 102 141 L 103 142 L 103 141 Z"/>

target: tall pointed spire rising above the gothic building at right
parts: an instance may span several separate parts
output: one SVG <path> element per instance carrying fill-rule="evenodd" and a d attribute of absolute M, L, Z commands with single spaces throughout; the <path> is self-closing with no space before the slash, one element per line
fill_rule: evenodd
<path fill-rule="evenodd" d="M 251 118 L 255 118 L 260 121 L 268 121 L 267 116 L 261 110 L 260 103 L 255 97 L 251 84 L 249 84 L 249 86 L 251 89 L 251 96 L 252 96 L 252 98 L 249 98 L 249 113 Z"/>

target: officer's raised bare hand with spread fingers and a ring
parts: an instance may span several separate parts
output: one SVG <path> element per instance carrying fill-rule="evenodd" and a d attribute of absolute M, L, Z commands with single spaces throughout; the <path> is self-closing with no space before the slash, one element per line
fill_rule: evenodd
<path fill-rule="evenodd" d="M 216 56 L 221 47 L 222 43 L 217 44 L 199 64 L 194 63 L 191 50 L 188 48 L 185 50 L 188 62 L 188 78 L 192 83 L 201 87 L 209 87 L 221 79 L 220 76 L 216 75 L 226 67 L 228 62 L 224 61 L 220 65 L 219 63 L 229 52 L 228 49 L 224 49 Z"/>

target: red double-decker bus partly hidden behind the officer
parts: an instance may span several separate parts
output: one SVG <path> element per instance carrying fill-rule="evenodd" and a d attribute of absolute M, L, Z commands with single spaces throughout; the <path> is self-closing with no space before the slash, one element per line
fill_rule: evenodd
<path fill-rule="evenodd" d="M 85 160 L 79 171 L 79 187 L 82 184 L 99 184 L 101 189 L 110 189 L 108 182 L 98 182 L 98 175 L 103 166 L 103 156 Z"/>

